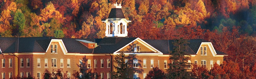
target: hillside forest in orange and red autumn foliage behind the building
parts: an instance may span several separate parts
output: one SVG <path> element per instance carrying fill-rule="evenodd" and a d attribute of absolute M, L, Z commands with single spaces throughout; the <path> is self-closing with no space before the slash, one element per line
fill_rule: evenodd
<path fill-rule="evenodd" d="M 205 39 L 229 78 L 256 78 L 256 0 L 0 0 L 0 37 L 103 38 L 115 2 L 128 37 Z"/>

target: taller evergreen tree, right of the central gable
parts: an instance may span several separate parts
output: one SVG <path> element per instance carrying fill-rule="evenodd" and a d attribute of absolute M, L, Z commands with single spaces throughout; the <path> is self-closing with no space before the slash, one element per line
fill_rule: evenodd
<path fill-rule="evenodd" d="M 190 59 L 190 54 L 186 52 L 187 42 L 186 40 L 177 39 L 172 42 L 174 47 L 173 51 L 170 51 L 169 69 L 167 69 L 168 79 L 190 79 L 192 78 L 191 72 L 187 71 L 188 60 Z"/>

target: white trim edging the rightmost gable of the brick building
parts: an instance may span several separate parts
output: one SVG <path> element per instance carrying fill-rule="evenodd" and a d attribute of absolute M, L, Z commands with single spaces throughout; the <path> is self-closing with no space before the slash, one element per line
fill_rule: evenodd
<path fill-rule="evenodd" d="M 228 55 L 217 55 L 217 53 L 216 53 L 216 51 L 215 51 L 215 49 L 214 49 L 214 47 L 213 47 L 213 45 L 212 45 L 212 42 L 202 42 L 202 43 L 200 44 L 200 46 L 199 46 L 199 48 L 198 48 L 196 54 L 198 54 L 198 52 L 201 51 L 200 48 L 201 48 L 202 45 L 208 45 L 208 47 L 209 47 L 209 49 L 210 49 L 210 51 L 211 51 L 213 57 L 224 57 L 224 56 L 228 56 Z M 200 52 L 200 53 L 201 53 L 201 52 Z M 203 51 L 203 54 L 204 54 L 204 51 Z M 208 54 L 209 54 L 209 53 L 208 53 Z M 192 56 L 192 55 L 191 55 L 191 56 Z"/>

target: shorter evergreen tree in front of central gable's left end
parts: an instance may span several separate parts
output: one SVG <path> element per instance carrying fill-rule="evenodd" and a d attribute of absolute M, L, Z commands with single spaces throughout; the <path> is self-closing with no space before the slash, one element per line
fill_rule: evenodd
<path fill-rule="evenodd" d="M 117 63 L 117 65 L 114 65 L 116 72 L 112 72 L 112 79 L 133 79 L 134 71 L 133 68 L 125 63 L 124 52 L 120 52 L 115 56 L 114 63 Z"/>

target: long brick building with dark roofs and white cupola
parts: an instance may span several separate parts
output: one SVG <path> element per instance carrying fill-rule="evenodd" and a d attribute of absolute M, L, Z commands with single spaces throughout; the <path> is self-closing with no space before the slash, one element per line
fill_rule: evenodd
<path fill-rule="evenodd" d="M 0 78 L 43 78 L 45 70 L 56 73 L 61 70 L 63 78 L 73 79 L 74 71 L 93 73 L 95 78 L 110 78 L 115 71 L 114 57 L 121 51 L 125 61 L 135 69 L 134 78 L 143 79 L 153 68 L 166 71 L 173 50 L 173 40 L 142 40 L 127 37 L 127 23 L 121 4 L 113 4 L 109 18 L 105 21 L 105 38 L 72 39 L 53 37 L 7 38 L 0 37 Z M 209 41 L 191 39 L 187 44 L 191 60 L 210 69 L 214 63 L 222 64 L 227 54 L 214 49 Z M 53 71 L 54 70 L 54 71 Z"/>

